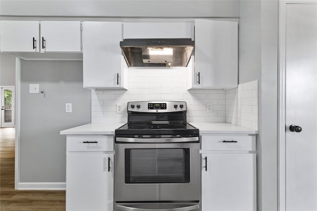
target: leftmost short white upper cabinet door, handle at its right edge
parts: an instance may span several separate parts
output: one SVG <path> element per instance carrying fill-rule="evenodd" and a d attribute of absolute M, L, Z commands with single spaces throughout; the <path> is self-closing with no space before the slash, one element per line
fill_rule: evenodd
<path fill-rule="evenodd" d="M 0 51 L 39 52 L 39 21 L 0 21 Z"/>

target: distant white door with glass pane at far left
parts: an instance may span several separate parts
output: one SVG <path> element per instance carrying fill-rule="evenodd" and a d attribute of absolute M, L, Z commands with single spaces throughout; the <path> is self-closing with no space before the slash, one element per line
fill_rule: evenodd
<path fill-rule="evenodd" d="M 1 87 L 1 127 L 14 127 L 14 87 Z"/>

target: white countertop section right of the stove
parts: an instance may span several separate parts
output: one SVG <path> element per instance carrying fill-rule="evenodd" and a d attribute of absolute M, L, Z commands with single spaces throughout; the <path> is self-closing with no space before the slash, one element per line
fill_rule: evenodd
<path fill-rule="evenodd" d="M 232 125 L 230 123 L 189 123 L 199 128 L 200 134 L 258 134 L 258 131 L 248 127 Z"/>

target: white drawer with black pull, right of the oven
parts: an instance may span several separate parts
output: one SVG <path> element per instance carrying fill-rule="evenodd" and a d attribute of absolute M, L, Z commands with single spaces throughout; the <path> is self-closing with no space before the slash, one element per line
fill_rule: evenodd
<path fill-rule="evenodd" d="M 256 151 L 256 136 L 202 135 L 202 150 Z"/>

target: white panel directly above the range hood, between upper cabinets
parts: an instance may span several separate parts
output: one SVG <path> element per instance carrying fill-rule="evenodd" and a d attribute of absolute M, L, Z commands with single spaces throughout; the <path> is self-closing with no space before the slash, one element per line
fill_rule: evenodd
<path fill-rule="evenodd" d="M 124 39 L 192 38 L 194 25 L 190 22 L 158 22 L 123 24 Z"/>

